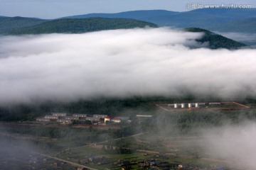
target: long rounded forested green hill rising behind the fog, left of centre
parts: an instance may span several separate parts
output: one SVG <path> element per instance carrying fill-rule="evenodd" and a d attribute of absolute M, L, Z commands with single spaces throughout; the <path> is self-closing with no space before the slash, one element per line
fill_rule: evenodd
<path fill-rule="evenodd" d="M 47 21 L 36 26 L 11 30 L 11 35 L 43 33 L 86 33 L 97 30 L 157 27 L 154 23 L 124 18 L 63 18 Z"/>

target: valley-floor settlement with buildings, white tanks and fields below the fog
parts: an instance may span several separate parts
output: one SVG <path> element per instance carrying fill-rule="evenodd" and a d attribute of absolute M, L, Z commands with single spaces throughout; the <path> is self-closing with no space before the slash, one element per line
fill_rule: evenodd
<path fill-rule="evenodd" d="M 3 135 L 17 141 L 33 141 L 33 145 L 41 149 L 44 147 L 43 151 L 38 149 L 38 152 L 28 152 L 23 157 L 23 162 L 29 167 L 27 169 L 233 169 L 227 163 L 229 160 L 223 161 L 216 159 L 214 155 L 204 154 L 203 149 L 198 147 L 203 142 L 202 137 L 193 134 L 176 136 L 171 121 L 180 123 L 180 130 L 186 132 L 185 125 L 190 124 L 180 121 L 181 115 L 198 117 L 195 119 L 198 121 L 205 114 L 216 115 L 217 112 L 213 111 L 226 109 L 231 113 L 237 109 L 247 110 L 249 106 L 235 102 L 184 101 L 154 103 L 151 106 L 158 106 L 156 108 L 161 108 L 160 111 L 164 109 L 164 112 L 48 112 L 26 124 L 10 124 L 9 128 L 13 133 Z M 206 113 L 207 111 L 209 112 Z M 17 130 L 21 128 L 16 127 L 21 126 L 26 130 Z M 164 128 L 165 132 L 159 131 Z M 11 161 L 16 162 L 13 159 L 16 157 L 18 155 L 11 157 Z M 7 164 L 3 163 L 2 166 Z"/>

